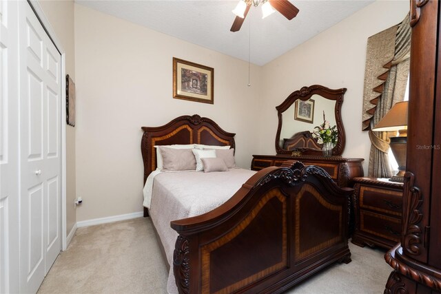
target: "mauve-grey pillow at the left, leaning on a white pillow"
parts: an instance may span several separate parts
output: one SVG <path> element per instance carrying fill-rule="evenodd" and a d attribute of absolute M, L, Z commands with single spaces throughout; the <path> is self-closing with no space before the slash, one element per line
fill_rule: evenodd
<path fill-rule="evenodd" d="M 159 146 L 163 157 L 163 171 L 190 171 L 196 169 L 196 159 L 192 149 L 174 149 Z"/>

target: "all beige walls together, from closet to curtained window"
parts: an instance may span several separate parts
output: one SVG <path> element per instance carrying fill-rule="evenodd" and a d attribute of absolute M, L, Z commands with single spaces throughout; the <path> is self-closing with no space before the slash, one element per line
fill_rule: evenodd
<path fill-rule="evenodd" d="M 67 127 L 68 231 L 76 220 L 142 210 L 141 126 L 207 116 L 236 132 L 237 163 L 249 168 L 252 154 L 274 154 L 275 107 L 304 85 L 348 88 L 343 156 L 368 160 L 369 138 L 360 130 L 367 37 L 409 10 L 407 1 L 376 1 L 264 67 L 252 65 L 247 87 L 243 61 L 72 1 L 39 2 L 76 83 L 76 127 Z M 173 56 L 215 68 L 214 105 L 172 98 Z M 76 213 L 75 196 L 84 200 Z"/>

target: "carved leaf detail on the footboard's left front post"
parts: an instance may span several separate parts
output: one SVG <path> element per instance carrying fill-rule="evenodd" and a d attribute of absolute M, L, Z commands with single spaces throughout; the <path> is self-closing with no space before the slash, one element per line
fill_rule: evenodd
<path fill-rule="evenodd" d="M 189 293 L 190 264 L 189 241 L 179 235 L 173 253 L 173 272 L 176 277 L 176 286 L 179 293 Z"/>

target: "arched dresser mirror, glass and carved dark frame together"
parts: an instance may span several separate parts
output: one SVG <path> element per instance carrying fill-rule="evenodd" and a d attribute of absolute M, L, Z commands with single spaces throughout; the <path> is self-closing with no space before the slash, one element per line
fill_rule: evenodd
<path fill-rule="evenodd" d="M 332 126 L 337 125 L 338 141 L 332 155 L 340 156 L 345 148 L 345 129 L 341 106 L 346 88 L 332 90 L 322 85 L 302 87 L 292 92 L 276 107 L 278 128 L 277 154 L 321 155 L 322 145 L 312 138 L 314 127 L 323 123 L 323 113 Z"/>

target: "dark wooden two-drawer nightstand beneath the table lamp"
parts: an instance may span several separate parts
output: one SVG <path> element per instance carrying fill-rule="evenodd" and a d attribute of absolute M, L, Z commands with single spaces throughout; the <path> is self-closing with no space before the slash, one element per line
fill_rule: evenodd
<path fill-rule="evenodd" d="M 355 231 L 351 242 L 390 249 L 401 238 L 403 184 L 378 178 L 352 180 Z"/>

